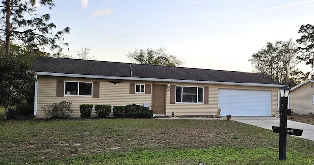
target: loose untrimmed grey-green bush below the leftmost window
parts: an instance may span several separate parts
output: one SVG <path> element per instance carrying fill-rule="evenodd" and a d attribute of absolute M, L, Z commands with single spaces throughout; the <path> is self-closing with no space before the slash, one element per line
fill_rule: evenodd
<path fill-rule="evenodd" d="M 44 113 L 47 117 L 53 119 L 68 118 L 72 116 L 73 109 L 71 109 L 72 102 L 60 102 L 46 105 L 43 107 Z"/>

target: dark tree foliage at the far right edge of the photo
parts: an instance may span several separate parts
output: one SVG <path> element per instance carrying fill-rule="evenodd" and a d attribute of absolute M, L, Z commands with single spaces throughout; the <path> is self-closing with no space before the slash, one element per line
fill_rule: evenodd
<path fill-rule="evenodd" d="M 302 47 L 298 47 L 301 55 L 296 58 L 312 67 L 314 79 L 314 25 L 301 25 L 299 33 L 303 35 L 296 42 L 301 44 Z"/>

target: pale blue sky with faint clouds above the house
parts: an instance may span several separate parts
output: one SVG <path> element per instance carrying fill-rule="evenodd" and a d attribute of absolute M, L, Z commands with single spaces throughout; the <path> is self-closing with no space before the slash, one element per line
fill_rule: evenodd
<path fill-rule="evenodd" d="M 165 47 L 184 67 L 251 72 L 268 41 L 295 41 L 314 24 L 314 0 L 55 0 L 51 14 L 69 51 L 90 47 L 97 60 L 131 62 L 135 48 Z M 309 66 L 299 65 L 303 71 Z"/>

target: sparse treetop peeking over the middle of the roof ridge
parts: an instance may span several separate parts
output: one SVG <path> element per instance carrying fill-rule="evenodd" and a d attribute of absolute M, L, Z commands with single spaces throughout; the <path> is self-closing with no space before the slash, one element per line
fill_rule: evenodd
<path fill-rule="evenodd" d="M 146 65 L 183 66 L 184 62 L 176 55 L 169 54 L 164 47 L 152 49 L 135 49 L 126 54 L 132 62 Z"/>

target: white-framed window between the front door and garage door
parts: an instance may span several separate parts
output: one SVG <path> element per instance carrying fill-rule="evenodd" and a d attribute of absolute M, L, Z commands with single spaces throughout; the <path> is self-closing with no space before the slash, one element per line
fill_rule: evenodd
<path fill-rule="evenodd" d="M 176 102 L 203 103 L 203 87 L 176 87 Z"/>

